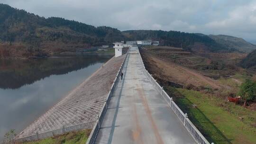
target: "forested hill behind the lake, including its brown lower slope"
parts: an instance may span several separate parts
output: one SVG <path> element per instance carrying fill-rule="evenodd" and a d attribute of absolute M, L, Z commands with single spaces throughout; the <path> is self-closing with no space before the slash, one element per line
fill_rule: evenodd
<path fill-rule="evenodd" d="M 0 57 L 42 56 L 123 39 L 116 28 L 94 27 L 64 18 L 39 17 L 0 4 Z"/>

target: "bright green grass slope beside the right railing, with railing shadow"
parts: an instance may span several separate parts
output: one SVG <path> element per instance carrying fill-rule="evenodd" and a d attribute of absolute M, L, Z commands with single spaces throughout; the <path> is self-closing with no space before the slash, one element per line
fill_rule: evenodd
<path fill-rule="evenodd" d="M 199 91 L 172 87 L 167 91 L 179 96 L 175 102 L 210 143 L 256 144 L 256 111 Z"/>

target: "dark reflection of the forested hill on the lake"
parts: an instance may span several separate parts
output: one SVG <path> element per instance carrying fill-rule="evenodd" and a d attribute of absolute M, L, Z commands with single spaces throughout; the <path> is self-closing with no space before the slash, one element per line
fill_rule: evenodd
<path fill-rule="evenodd" d="M 98 55 L 65 55 L 37 60 L 0 60 L 0 88 L 17 89 L 52 74 L 80 70 L 108 59 Z"/>

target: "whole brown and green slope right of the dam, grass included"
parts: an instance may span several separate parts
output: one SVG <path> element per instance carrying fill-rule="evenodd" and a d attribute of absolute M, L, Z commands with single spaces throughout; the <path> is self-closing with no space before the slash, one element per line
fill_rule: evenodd
<path fill-rule="evenodd" d="M 255 72 L 237 66 L 247 54 L 198 55 L 168 46 L 145 46 L 140 54 L 146 70 L 210 142 L 255 144 L 255 104 L 244 108 L 243 101 L 227 101 L 227 97 L 237 96 L 243 81 L 256 80 Z"/>

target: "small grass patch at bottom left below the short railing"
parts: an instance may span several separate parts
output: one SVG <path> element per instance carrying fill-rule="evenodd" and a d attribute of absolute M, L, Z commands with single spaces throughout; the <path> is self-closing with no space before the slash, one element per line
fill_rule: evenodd
<path fill-rule="evenodd" d="M 85 144 L 90 133 L 91 129 L 86 129 L 23 144 Z"/>

